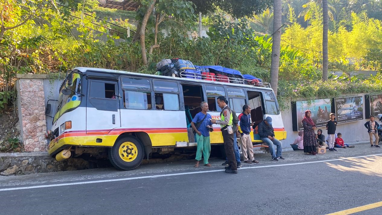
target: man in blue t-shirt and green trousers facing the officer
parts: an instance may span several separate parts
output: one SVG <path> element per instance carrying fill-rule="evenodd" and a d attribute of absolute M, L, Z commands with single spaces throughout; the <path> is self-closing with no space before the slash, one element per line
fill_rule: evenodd
<path fill-rule="evenodd" d="M 191 126 L 196 131 L 196 164 L 194 167 L 199 167 L 199 161 L 202 160 L 202 154 L 204 157 L 204 166 L 211 167 L 208 163 L 208 158 L 211 154 L 211 143 L 210 143 L 210 131 L 212 128 L 211 115 L 207 113 L 208 103 L 200 103 L 202 111 L 197 113 L 191 122 Z M 195 125 L 197 124 L 197 125 Z"/>

